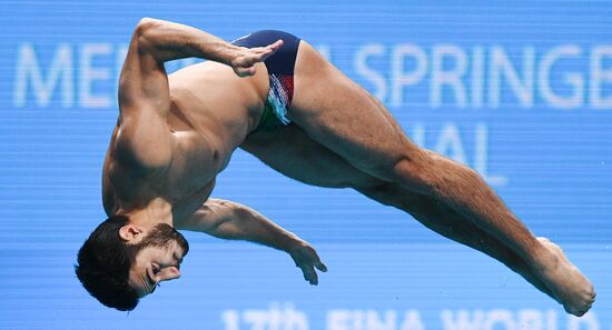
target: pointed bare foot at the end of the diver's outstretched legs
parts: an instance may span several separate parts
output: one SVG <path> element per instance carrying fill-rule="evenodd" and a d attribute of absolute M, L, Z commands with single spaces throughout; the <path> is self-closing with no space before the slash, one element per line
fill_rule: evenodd
<path fill-rule="evenodd" d="M 536 262 L 534 273 L 551 289 L 565 311 L 582 317 L 595 301 L 593 284 L 573 266 L 561 248 L 546 238 L 537 238 L 549 253 Z"/>

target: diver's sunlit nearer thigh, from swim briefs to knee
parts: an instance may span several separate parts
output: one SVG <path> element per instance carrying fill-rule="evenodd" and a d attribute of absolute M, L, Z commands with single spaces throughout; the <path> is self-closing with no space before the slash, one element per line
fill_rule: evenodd
<path fill-rule="evenodd" d="M 294 81 L 288 117 L 351 164 L 384 178 L 376 171 L 419 153 L 383 103 L 306 42 L 299 46 Z"/>

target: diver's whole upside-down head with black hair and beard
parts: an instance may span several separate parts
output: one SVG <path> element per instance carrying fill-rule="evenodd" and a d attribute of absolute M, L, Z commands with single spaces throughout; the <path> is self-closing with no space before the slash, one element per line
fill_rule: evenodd
<path fill-rule="evenodd" d="M 77 277 L 102 304 L 132 310 L 160 281 L 180 277 L 187 240 L 166 223 L 142 228 L 125 216 L 100 223 L 85 241 L 75 267 Z"/>

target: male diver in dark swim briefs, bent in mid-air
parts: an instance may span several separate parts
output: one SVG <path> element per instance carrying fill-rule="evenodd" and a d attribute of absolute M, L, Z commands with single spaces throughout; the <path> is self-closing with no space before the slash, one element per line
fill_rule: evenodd
<path fill-rule="evenodd" d="M 166 61 L 208 61 L 166 74 Z M 101 303 L 131 310 L 180 276 L 188 251 L 176 229 L 287 251 L 316 284 L 326 271 L 304 240 L 255 210 L 209 199 L 241 148 L 307 184 L 352 188 L 506 264 L 584 314 L 593 286 L 535 238 L 472 169 L 412 143 L 387 109 L 280 31 L 225 42 L 169 21 L 140 20 L 119 81 L 119 118 L 103 163 L 108 219 L 88 238 L 76 272 Z"/>

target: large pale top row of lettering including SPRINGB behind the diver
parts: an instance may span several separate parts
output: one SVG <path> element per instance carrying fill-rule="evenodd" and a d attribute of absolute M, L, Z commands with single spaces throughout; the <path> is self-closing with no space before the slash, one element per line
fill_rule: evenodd
<path fill-rule="evenodd" d="M 45 53 L 48 59 L 42 59 L 43 53 L 31 43 L 18 47 L 12 98 L 16 108 L 24 107 L 28 101 L 48 107 L 56 99 L 63 108 L 115 106 L 118 77 L 128 46 L 86 43 L 75 47 L 57 44 Z M 330 59 L 329 46 L 320 44 L 317 49 Z M 431 108 L 445 104 L 500 108 L 513 101 L 523 108 L 533 108 L 537 100 L 555 109 L 584 106 L 612 109 L 612 44 L 595 44 L 589 52 L 579 44 L 537 50 L 541 56 L 536 58 L 533 47 L 511 53 L 501 46 L 463 48 L 440 43 L 433 44 L 428 53 L 417 44 L 375 42 L 359 47 L 352 64 L 356 76 L 372 84 L 368 88 L 373 94 L 392 107 L 405 104 L 408 94 L 421 97 L 423 89 L 427 94 L 413 101 L 426 100 Z M 73 52 L 78 54 L 75 59 Z M 107 67 L 97 64 L 102 59 L 115 62 Z M 197 61 L 195 58 L 171 61 L 166 68 L 171 72 Z M 383 68 L 386 62 L 389 68 Z M 75 77 L 75 73 L 79 74 Z M 431 81 L 426 81 L 428 74 Z M 109 91 L 111 87 L 115 90 Z M 411 93 L 412 90 L 418 94 Z"/>

